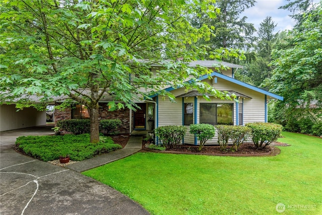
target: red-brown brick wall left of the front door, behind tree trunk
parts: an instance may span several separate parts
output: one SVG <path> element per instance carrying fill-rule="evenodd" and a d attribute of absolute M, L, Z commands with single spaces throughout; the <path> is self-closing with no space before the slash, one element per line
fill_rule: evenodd
<path fill-rule="evenodd" d="M 107 103 L 99 103 L 99 105 L 100 119 L 120 119 L 122 121 L 122 125 L 119 127 L 118 131 L 120 133 L 129 133 L 130 110 L 128 108 L 116 111 L 108 111 Z M 55 110 L 55 122 L 63 119 L 71 119 L 71 108 L 66 108 L 64 110 Z"/>

